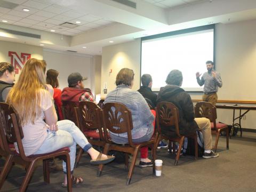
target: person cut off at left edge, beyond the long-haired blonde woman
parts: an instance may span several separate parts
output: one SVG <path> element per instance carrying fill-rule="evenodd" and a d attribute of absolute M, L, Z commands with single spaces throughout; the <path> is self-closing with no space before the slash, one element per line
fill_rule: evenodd
<path fill-rule="evenodd" d="M 7 62 L 0 63 L 0 102 L 5 102 L 15 79 L 14 67 Z"/>

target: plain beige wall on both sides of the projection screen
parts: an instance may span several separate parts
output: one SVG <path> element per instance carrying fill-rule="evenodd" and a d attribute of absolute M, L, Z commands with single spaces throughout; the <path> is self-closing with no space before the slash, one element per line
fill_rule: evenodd
<path fill-rule="evenodd" d="M 254 89 L 256 82 L 254 75 L 256 71 L 255 31 L 256 20 L 216 25 L 215 62 L 223 81 L 223 86 L 218 92 L 219 99 L 256 100 L 256 89 Z M 113 90 L 116 74 L 123 67 L 134 70 L 133 89 L 137 90 L 140 85 L 140 39 L 103 47 L 101 87 L 103 88 L 103 83 L 107 82 L 108 91 Z M 108 73 L 109 69 L 114 70 L 112 74 Z M 191 93 L 191 98 L 201 99 L 202 93 Z M 218 110 L 218 120 L 230 124 L 232 114 L 231 110 Z M 242 120 L 243 127 L 256 129 L 255 115 L 256 111 L 246 114 L 246 120 Z"/>

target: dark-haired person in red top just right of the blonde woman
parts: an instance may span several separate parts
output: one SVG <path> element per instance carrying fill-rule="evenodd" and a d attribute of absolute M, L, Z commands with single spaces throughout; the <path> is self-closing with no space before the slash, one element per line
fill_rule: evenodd
<path fill-rule="evenodd" d="M 49 69 L 46 72 L 46 83 L 52 85 L 53 87 L 53 99 L 54 103 L 57 106 L 58 113 L 59 113 L 59 120 L 63 120 L 62 111 L 61 111 L 61 90 L 58 89 L 59 87 L 59 71 L 55 69 Z"/>

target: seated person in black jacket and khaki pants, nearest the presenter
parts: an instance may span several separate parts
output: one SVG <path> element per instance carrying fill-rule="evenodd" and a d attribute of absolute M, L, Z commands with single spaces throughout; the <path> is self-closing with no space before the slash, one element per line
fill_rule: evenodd
<path fill-rule="evenodd" d="M 203 133 L 204 140 L 204 158 L 218 157 L 219 154 L 214 153 L 212 149 L 211 123 L 207 118 L 195 118 L 193 102 L 190 95 L 180 88 L 182 85 L 182 73 L 179 70 L 172 70 L 166 78 L 166 86 L 161 87 L 157 102 L 172 102 L 179 109 L 179 129 L 180 134 L 194 133 L 196 130 Z M 172 130 L 166 130 L 164 127 L 162 132 L 168 135 Z M 175 130 L 173 129 L 173 132 Z"/>

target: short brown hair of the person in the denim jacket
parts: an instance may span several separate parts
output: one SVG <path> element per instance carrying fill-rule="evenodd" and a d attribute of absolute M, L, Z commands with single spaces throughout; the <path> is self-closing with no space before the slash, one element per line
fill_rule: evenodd
<path fill-rule="evenodd" d="M 133 70 L 128 68 L 123 68 L 118 72 L 116 76 L 116 86 L 121 84 L 131 86 L 133 79 L 134 79 Z"/>

